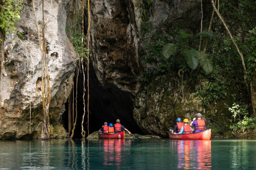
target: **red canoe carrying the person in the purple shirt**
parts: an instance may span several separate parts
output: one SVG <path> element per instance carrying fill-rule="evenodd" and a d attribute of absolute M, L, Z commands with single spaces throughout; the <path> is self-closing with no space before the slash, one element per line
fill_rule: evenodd
<path fill-rule="evenodd" d="M 169 137 L 170 139 L 174 139 L 174 140 L 210 140 L 211 129 L 207 129 L 199 133 L 180 134 L 180 135 L 174 135 L 169 131 Z"/>

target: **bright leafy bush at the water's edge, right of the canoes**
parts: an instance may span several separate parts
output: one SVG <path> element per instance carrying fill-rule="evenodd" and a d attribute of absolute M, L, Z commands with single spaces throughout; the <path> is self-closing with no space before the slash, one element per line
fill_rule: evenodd
<path fill-rule="evenodd" d="M 248 106 L 239 106 L 234 103 L 232 107 L 229 107 L 228 110 L 233 114 L 232 118 L 234 121 L 230 119 L 231 125 L 229 128 L 232 130 L 234 136 L 236 137 L 236 133 L 249 131 L 250 129 L 256 128 L 256 117 L 250 116 L 248 117 Z M 237 120 L 237 122 L 236 122 Z"/>

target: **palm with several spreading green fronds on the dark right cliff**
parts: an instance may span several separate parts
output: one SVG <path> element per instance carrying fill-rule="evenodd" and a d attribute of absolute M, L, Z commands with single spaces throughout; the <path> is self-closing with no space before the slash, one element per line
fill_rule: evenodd
<path fill-rule="evenodd" d="M 166 44 L 162 50 L 162 54 L 165 58 L 169 58 L 172 55 L 178 53 L 179 56 L 182 56 L 188 67 L 192 70 L 195 70 L 198 65 L 200 65 L 206 73 L 210 73 L 213 69 L 212 61 L 209 54 L 204 51 L 198 51 L 192 48 L 193 42 L 198 37 L 212 37 L 212 31 L 204 30 L 196 35 L 191 35 L 185 33 L 183 30 L 179 31 L 180 36 L 183 38 L 180 44 Z M 185 40 L 185 42 L 184 42 Z M 177 49 L 180 49 L 177 51 Z M 184 65 L 180 65 L 180 68 Z M 184 72 L 184 69 L 182 69 Z"/>

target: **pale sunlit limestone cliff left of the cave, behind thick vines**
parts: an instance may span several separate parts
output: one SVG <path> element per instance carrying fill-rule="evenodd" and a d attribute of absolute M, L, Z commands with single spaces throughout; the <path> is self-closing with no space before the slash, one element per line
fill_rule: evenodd
<path fill-rule="evenodd" d="M 67 132 L 60 124 L 65 102 L 70 94 L 73 72 L 78 60 L 65 33 L 67 1 L 45 1 L 45 37 L 49 67 L 51 104 L 49 108 L 51 137 L 63 138 Z M 42 30 L 42 3 L 35 1 L 36 14 Z M 0 139 L 39 137 L 42 121 L 41 52 L 34 13 L 30 0 L 24 2 L 16 22 L 17 33 L 5 40 L 5 72 L 1 81 Z M 42 34 L 42 32 L 40 32 Z M 31 135 L 30 124 L 31 103 Z"/>

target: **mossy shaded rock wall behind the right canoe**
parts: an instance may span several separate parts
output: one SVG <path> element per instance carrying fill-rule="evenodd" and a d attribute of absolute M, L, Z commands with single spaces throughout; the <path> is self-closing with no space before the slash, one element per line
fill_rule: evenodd
<path fill-rule="evenodd" d="M 133 117 L 141 130 L 145 134 L 168 137 L 168 131 L 174 128 L 176 118 L 188 118 L 191 122 L 199 112 L 207 124 L 207 129 L 212 128 L 213 136 L 216 132 L 226 131 L 227 127 L 224 125 L 229 121 L 226 105 L 232 105 L 233 102 L 228 97 L 230 94 L 205 108 L 199 97 L 195 97 L 195 93 L 189 91 L 188 87 L 184 90 L 185 100 L 182 101 L 180 79 L 175 74 L 169 74 L 162 80 L 153 81 L 147 91 L 141 90 L 137 93 Z M 213 116 L 216 124 L 209 121 Z"/>

